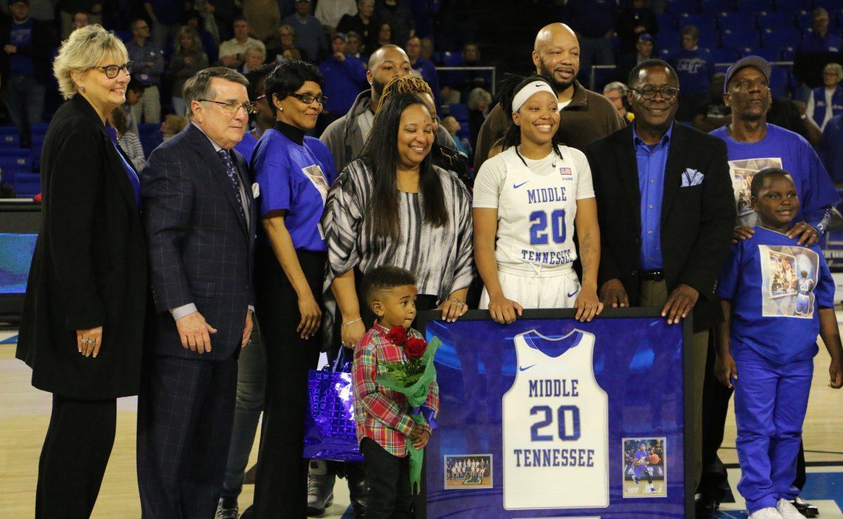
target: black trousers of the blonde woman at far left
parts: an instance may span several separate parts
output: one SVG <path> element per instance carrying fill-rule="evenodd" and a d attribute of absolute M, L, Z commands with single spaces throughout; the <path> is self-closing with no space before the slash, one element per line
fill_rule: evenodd
<path fill-rule="evenodd" d="M 35 517 L 87 519 L 114 446 L 116 399 L 53 394 L 50 426 L 38 462 Z"/>

